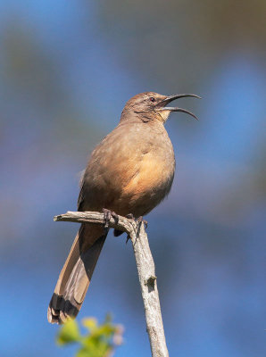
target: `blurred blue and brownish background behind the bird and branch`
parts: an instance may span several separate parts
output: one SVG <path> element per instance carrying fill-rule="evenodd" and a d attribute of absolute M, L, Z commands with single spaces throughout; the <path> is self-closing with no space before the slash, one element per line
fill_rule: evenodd
<path fill-rule="evenodd" d="M 177 173 L 147 216 L 171 356 L 266 355 L 263 0 L 0 3 L 1 356 L 72 356 L 46 308 L 78 229 L 79 171 L 130 96 L 182 99 Z M 137 270 L 110 237 L 79 320 L 112 311 L 117 357 L 148 356 Z"/>

